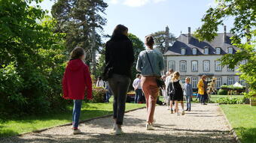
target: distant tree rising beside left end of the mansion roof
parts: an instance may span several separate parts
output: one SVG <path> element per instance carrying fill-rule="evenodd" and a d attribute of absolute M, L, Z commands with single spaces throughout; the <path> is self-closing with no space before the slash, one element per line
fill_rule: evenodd
<path fill-rule="evenodd" d="M 170 45 L 172 45 L 176 40 L 174 34 L 168 34 L 166 31 L 157 31 L 151 35 L 154 37 L 156 48 L 159 49 L 163 54 L 166 52 L 166 40 L 169 41 Z"/>

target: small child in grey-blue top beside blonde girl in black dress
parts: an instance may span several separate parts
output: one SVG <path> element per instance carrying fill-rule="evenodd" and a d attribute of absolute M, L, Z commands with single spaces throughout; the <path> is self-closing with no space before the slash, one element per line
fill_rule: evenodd
<path fill-rule="evenodd" d="M 190 78 L 186 78 L 186 82 L 184 84 L 184 95 L 186 97 L 187 109 L 186 111 L 191 111 L 191 97 L 193 95 L 192 85 L 190 85 Z"/>

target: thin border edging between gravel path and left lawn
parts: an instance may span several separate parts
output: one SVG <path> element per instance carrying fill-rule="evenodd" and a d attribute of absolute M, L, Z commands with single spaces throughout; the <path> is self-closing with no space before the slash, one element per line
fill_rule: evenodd
<path fill-rule="evenodd" d="M 134 111 L 136 111 L 136 110 L 145 109 L 145 108 L 146 108 L 146 106 L 140 107 L 140 108 L 137 108 L 137 109 L 131 109 L 131 110 L 126 111 L 125 113 L 134 112 Z M 111 117 L 111 116 L 112 116 L 112 114 L 104 115 L 104 116 L 99 116 L 99 117 L 96 117 L 96 118 L 89 118 L 89 119 L 86 119 L 86 120 L 83 120 L 83 121 L 79 121 L 79 124 L 85 123 L 85 122 L 87 122 L 87 121 L 93 121 L 93 120 L 100 119 L 100 118 L 108 118 L 108 117 Z M 41 129 L 41 130 L 34 130 L 34 131 L 28 132 L 28 133 L 21 133 L 21 134 L 16 135 L 16 136 L 8 136 L 8 137 L 2 138 L 2 139 L 14 138 L 14 137 L 17 137 L 17 136 L 24 136 L 24 135 L 28 135 L 28 134 L 31 134 L 31 133 L 41 133 L 41 132 L 44 132 L 44 131 L 46 131 L 46 130 L 53 129 L 53 128 L 55 128 L 55 127 L 65 127 L 65 126 L 71 126 L 71 125 L 72 125 L 72 123 L 61 124 L 61 125 L 54 126 L 54 127 L 47 127 L 47 128 Z M 1 141 L 2 139 L 0 139 L 0 141 Z"/>

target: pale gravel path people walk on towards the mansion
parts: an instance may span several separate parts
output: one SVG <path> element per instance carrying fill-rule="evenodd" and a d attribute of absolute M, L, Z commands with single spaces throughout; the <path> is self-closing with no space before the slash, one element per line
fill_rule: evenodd
<path fill-rule="evenodd" d="M 153 131 L 145 130 L 146 109 L 126 113 L 121 136 L 114 136 L 111 118 L 100 118 L 81 124 L 82 135 L 71 135 L 71 127 L 56 127 L 41 133 L 30 133 L 5 140 L 10 142 L 235 142 L 227 121 L 217 104 L 193 104 L 184 116 L 170 114 L 166 106 L 157 106 Z"/>

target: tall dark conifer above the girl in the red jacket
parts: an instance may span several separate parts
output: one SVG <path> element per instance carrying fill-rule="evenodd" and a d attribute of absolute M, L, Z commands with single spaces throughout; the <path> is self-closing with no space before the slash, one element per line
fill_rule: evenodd
<path fill-rule="evenodd" d="M 92 55 L 102 45 L 101 35 L 99 32 L 94 33 L 94 28 L 100 31 L 102 25 L 106 24 L 102 16 L 106 7 L 108 4 L 103 0 L 58 0 L 53 4 L 52 15 L 58 21 L 56 31 L 66 33 L 69 51 L 75 46 L 85 49 L 87 63 L 90 63 Z M 96 40 L 95 44 L 93 39 Z"/>

